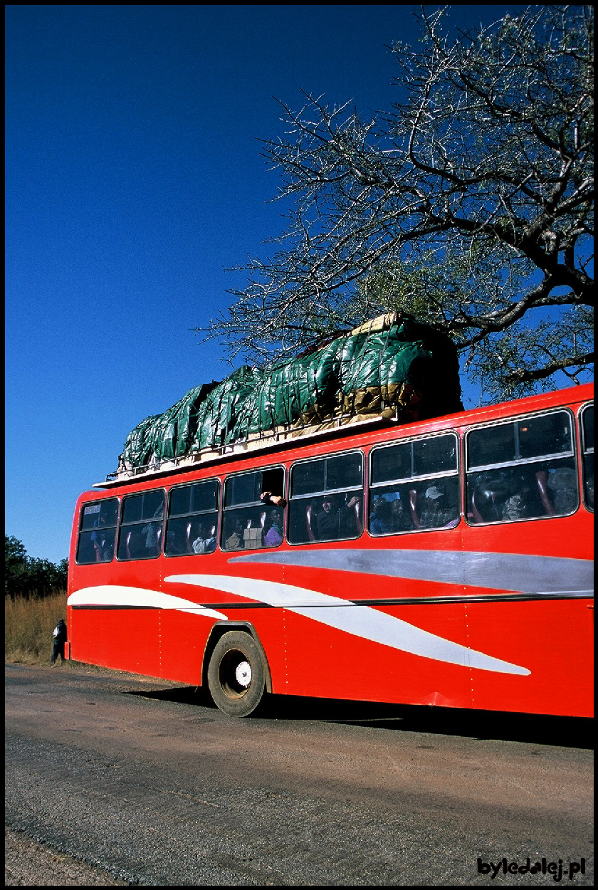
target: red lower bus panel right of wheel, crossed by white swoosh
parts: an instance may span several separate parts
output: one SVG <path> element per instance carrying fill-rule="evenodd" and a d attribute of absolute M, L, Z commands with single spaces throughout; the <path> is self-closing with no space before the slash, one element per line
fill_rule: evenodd
<path fill-rule="evenodd" d="M 353 606 L 339 606 L 346 614 Z M 465 607 L 376 607 L 394 618 L 422 628 L 442 639 L 466 644 Z M 327 627 L 318 620 L 287 612 L 287 692 L 318 698 L 401 702 L 471 708 L 469 670 L 399 648 L 374 643 L 358 634 Z M 365 618 L 367 619 L 367 613 Z M 367 634 L 365 624 L 362 633 Z"/>

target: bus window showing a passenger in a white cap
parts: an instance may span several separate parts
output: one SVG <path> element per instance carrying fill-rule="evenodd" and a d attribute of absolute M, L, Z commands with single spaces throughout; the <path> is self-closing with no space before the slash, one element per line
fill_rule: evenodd
<path fill-rule="evenodd" d="M 452 529 L 458 524 L 457 446 L 457 435 L 447 433 L 372 451 L 370 534 Z"/>

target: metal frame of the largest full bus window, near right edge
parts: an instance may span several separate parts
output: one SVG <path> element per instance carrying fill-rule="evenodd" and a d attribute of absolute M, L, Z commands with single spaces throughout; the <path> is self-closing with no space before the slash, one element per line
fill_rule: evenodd
<path fill-rule="evenodd" d="M 516 425 L 520 424 L 522 421 L 533 420 L 536 417 L 548 417 L 551 414 L 562 414 L 566 413 L 569 416 L 570 421 L 570 444 L 571 450 L 569 452 L 557 451 L 550 452 L 547 454 L 537 455 L 536 457 L 520 457 L 519 459 L 509 460 L 509 461 L 501 461 L 497 464 L 484 464 L 480 466 L 475 466 L 473 469 L 470 469 L 469 466 L 469 436 L 470 433 L 477 432 L 481 429 L 491 429 L 497 426 L 508 426 L 508 425 Z M 463 437 L 463 449 L 464 449 L 464 472 L 463 472 L 463 498 L 464 498 L 464 516 L 465 522 L 469 526 L 470 529 L 481 529 L 485 528 L 489 525 L 497 526 L 497 525 L 513 525 L 517 522 L 538 522 L 544 521 L 546 519 L 565 519 L 568 516 L 573 516 L 578 512 L 579 506 L 581 504 L 581 496 L 579 491 L 579 480 L 578 480 L 578 451 L 576 448 L 576 434 L 575 434 L 575 416 L 568 405 L 560 405 L 555 408 L 545 409 L 544 411 L 533 411 L 529 414 L 521 414 L 516 417 L 501 417 L 497 420 L 491 421 L 489 423 L 476 424 L 474 426 L 470 426 L 465 430 L 465 434 Z M 505 467 L 517 467 L 517 466 L 526 466 L 530 464 L 537 464 L 539 461 L 549 461 L 549 460 L 566 460 L 572 459 L 575 465 L 576 470 L 576 481 L 578 486 L 578 503 L 575 509 L 570 510 L 569 513 L 564 514 L 545 514 L 540 516 L 523 516 L 521 519 L 497 519 L 497 520 L 489 520 L 484 522 L 471 522 L 467 514 L 467 506 L 469 503 L 469 480 L 468 476 L 471 473 L 487 473 L 491 470 L 500 470 Z"/>

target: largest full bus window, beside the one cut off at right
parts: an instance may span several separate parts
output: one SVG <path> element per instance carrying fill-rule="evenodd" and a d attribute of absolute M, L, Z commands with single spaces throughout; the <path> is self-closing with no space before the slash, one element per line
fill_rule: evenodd
<path fill-rule="evenodd" d="M 466 454 L 467 516 L 474 524 L 564 516 L 578 508 L 568 411 L 472 430 Z"/>

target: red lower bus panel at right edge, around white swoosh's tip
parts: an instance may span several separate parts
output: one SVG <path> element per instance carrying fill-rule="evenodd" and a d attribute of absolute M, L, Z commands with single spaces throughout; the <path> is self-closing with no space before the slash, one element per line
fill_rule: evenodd
<path fill-rule="evenodd" d="M 472 671 L 473 708 L 593 716 L 594 609 L 589 600 L 472 603 L 471 645 L 499 651 L 529 676 Z"/>

